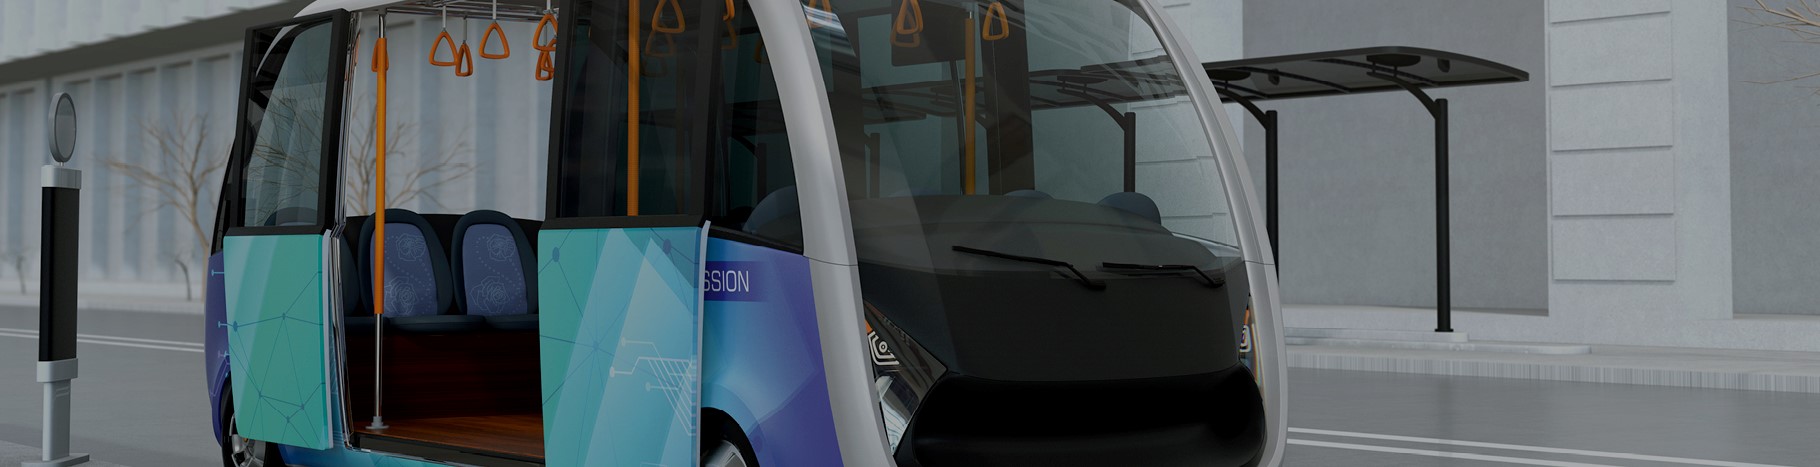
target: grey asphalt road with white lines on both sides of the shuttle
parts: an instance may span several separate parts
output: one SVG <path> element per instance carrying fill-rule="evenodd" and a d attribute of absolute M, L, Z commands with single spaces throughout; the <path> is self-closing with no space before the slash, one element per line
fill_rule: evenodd
<path fill-rule="evenodd" d="M 0 307 L 0 442 L 38 445 L 36 309 Z M 202 316 L 86 311 L 73 449 L 215 465 Z M 1285 465 L 1816 465 L 1820 394 L 1292 371 Z M 0 465 L 4 467 L 4 465 Z"/>

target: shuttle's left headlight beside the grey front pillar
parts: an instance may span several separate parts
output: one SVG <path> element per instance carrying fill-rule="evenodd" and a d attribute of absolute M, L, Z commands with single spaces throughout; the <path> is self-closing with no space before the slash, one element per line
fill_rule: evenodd
<path fill-rule="evenodd" d="M 879 392 L 879 412 L 885 416 L 885 440 L 897 452 L 928 389 L 935 387 L 948 367 L 935 362 L 903 329 L 885 320 L 885 313 L 866 303 L 866 347 L 872 360 L 874 389 Z"/>

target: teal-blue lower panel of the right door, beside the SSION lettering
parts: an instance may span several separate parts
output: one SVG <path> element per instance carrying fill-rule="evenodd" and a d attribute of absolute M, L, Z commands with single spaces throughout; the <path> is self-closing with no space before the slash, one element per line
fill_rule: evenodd
<path fill-rule="evenodd" d="M 542 231 L 544 460 L 699 462 L 701 227 Z"/>

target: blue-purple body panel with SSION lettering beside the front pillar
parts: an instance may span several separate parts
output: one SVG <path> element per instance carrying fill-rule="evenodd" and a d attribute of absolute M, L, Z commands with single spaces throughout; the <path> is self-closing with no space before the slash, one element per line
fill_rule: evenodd
<path fill-rule="evenodd" d="M 739 422 L 759 465 L 841 465 L 808 258 L 710 238 L 703 289 L 703 405 Z"/>

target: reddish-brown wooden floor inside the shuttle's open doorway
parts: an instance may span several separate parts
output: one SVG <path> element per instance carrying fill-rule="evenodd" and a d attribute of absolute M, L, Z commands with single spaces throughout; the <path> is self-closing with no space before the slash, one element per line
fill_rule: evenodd
<path fill-rule="evenodd" d="M 355 432 L 360 436 L 530 460 L 544 458 L 544 418 L 541 414 L 404 418 L 386 420 L 386 429 L 355 425 Z"/>

